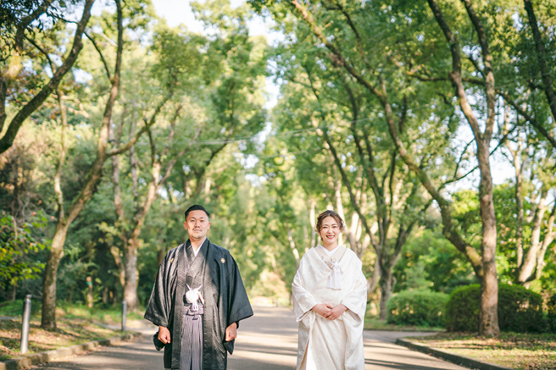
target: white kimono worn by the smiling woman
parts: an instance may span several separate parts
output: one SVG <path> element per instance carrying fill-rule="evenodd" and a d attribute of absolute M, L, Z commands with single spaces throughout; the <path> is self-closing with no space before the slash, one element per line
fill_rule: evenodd
<path fill-rule="evenodd" d="M 317 246 L 305 253 L 293 278 L 293 314 L 300 326 L 296 369 L 364 370 L 367 281 L 361 261 L 344 246 L 332 258 L 320 249 Z M 347 310 L 329 320 L 311 310 L 318 303 L 342 304 Z"/>

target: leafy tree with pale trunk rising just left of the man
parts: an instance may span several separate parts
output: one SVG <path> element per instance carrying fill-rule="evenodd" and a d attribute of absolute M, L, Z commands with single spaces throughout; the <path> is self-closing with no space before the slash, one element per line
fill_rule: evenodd
<path fill-rule="evenodd" d="M 202 190 L 208 192 L 210 189 L 211 179 L 205 178 L 206 171 L 231 138 L 234 135 L 252 134 L 262 124 L 262 104 L 259 105 L 253 98 L 260 94 L 256 81 L 265 74 L 264 61 L 256 54 L 256 42 L 249 39 L 245 26 L 247 13 L 242 8 L 231 10 L 222 1 L 197 6 L 197 11 L 202 9 L 206 10 L 203 12 L 204 21 L 219 33 L 215 40 L 209 41 L 205 37 L 186 33 L 181 28 L 161 28 L 155 35 L 153 49 L 157 52 L 159 62 L 154 65 L 154 76 L 171 85 L 170 91 L 179 97 L 174 99 L 174 108 L 167 112 L 170 117 L 165 127 L 156 131 L 149 129 L 150 152 L 140 152 L 131 147 L 128 167 L 132 178 L 131 212 L 124 209 L 118 159 L 113 158 L 116 226 L 117 235 L 123 244 L 124 259 L 120 260 L 120 250 L 116 246 L 113 247 L 113 256 L 120 268 L 124 269 L 124 297 L 132 309 L 138 305 L 136 261 L 142 226 L 152 203 L 158 198 L 166 182 L 170 183 L 170 189 L 174 188 L 174 166 L 181 163 L 182 168 L 179 171 L 188 167 L 190 172 L 187 175 L 195 180 L 195 188 L 190 196 L 196 199 Z M 222 22 L 221 19 L 228 15 L 235 18 Z M 234 22 L 235 20 L 238 22 Z M 208 53 L 204 53 L 204 49 Z M 250 60 L 250 63 L 245 65 L 244 60 Z M 143 87 L 140 88 L 148 85 L 152 84 L 142 82 Z M 137 101 L 130 98 L 127 100 Z M 201 108 L 197 106 L 197 101 L 205 105 L 205 117 L 201 115 L 195 121 L 192 116 L 196 114 L 195 110 Z M 132 109 L 134 108 L 130 108 Z M 121 125 L 124 119 L 122 117 Z M 121 133 L 121 126 L 116 135 L 113 133 L 116 143 L 120 142 Z M 198 146 L 202 146 L 204 140 L 215 137 L 218 133 L 224 133 L 222 139 L 218 140 L 220 142 L 210 146 L 208 150 L 199 150 Z M 149 165 L 139 166 L 138 162 Z M 147 186 L 140 194 L 139 173 L 145 171 L 149 172 L 149 176 L 142 175 L 141 178 Z"/>

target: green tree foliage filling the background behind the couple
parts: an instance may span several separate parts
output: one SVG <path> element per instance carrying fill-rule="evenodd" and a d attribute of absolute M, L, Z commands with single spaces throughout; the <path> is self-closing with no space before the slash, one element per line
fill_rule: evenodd
<path fill-rule="evenodd" d="M 204 24 L 202 33 L 194 33 L 186 26 L 168 27 L 154 15 L 150 1 L 124 2 L 122 77 L 113 107 L 115 138 L 109 146 L 129 140 L 152 117 L 156 106 L 170 99 L 131 151 L 118 155 L 115 162 L 107 160 L 95 194 L 69 226 L 58 269 L 58 299 L 68 304 L 85 301 L 85 279 L 90 277 L 95 306 L 120 304 L 122 267 L 126 260 L 136 258 L 138 301 L 145 304 L 161 258 L 187 237 L 181 223 L 183 210 L 191 203 L 202 203 L 213 213 L 209 237 L 233 253 L 250 294 L 272 296 L 275 301 L 289 301 L 297 263 L 318 244 L 313 217 L 327 208 L 343 212 L 348 227 L 342 242 L 363 260 L 370 287 L 381 288 L 369 292 L 373 305 L 389 290 L 426 288 L 450 293 L 459 285 L 477 282 L 480 276 L 475 276 L 470 261 L 445 237 L 438 203 L 421 212 L 429 197 L 396 153 L 384 101 L 371 96 L 345 69 L 361 72 L 363 79 L 376 86 L 384 83 L 402 142 L 450 201 L 455 229 L 464 242 L 471 251 L 481 251 L 476 148 L 446 78 L 450 49 L 426 3 L 303 2 L 325 40 L 345 57 L 343 62 L 314 36 L 292 1 L 250 3 L 271 17 L 275 31 L 283 35 L 272 47 L 264 37 L 252 36 L 250 27 L 256 22 L 245 5 L 232 6 L 227 0 L 192 3 L 195 17 Z M 0 3 L 0 60 L 5 67 L 17 62 L 13 59 L 17 29 L 39 4 L 35 0 Z M 17 62 L 22 70 L 2 90 L 6 91 L 7 121 L 51 78 L 48 59 L 55 64 L 63 61 L 75 31 L 63 16 L 79 15 L 82 4 L 83 0 L 53 1 L 41 17 L 25 26 L 22 60 Z M 461 76 L 468 96 L 473 96 L 470 104 L 479 121 L 484 121 L 485 96 L 482 85 L 475 83 L 484 72 L 477 33 L 461 1 L 449 0 L 440 6 L 459 37 Z M 497 0 L 473 6 L 485 26 L 500 88 L 497 94 L 507 92 L 517 107 L 530 110 L 553 133 L 555 120 L 541 91 L 544 81 L 534 58 L 536 48 L 523 3 Z M 534 9 L 546 53 L 556 55 L 553 1 L 539 0 Z M 72 73 L 60 82 L 67 108 L 67 155 L 60 176 L 66 210 L 79 196 L 95 161 L 95 137 L 111 83 L 104 64 L 110 69 L 115 62 L 114 10 L 106 6 L 91 17 L 87 32 L 96 45 L 83 38 Z M 556 71 L 553 58 L 547 62 L 550 73 Z M 267 109 L 265 78 L 280 85 L 279 101 L 271 110 Z M 550 239 L 546 236 L 555 189 L 554 151 L 523 112 L 517 112 L 501 95 L 498 98 L 495 108 L 500 126 L 493 133 L 491 149 L 496 148 L 496 154 L 491 167 L 504 160 L 499 153 L 512 166 L 512 153 L 518 153 L 516 158 L 525 164 L 521 244 L 525 253 L 538 255 L 534 237 L 541 242 Z M 62 149 L 60 113 L 56 96 L 50 96 L 25 121 L 10 150 L 0 155 L 0 208 L 10 213 L 17 230 L 31 225 L 26 244 L 18 242 L 14 248 L 22 252 L 16 255 L 17 263 L 26 264 L 33 276 L 18 275 L 17 286 L 12 285 L 15 298 L 29 293 L 40 296 L 42 284 L 36 279 L 40 275 L 36 269 L 42 267 L 47 237 L 54 235 L 60 217 L 52 182 Z M 331 148 L 336 150 L 337 161 Z M 154 165 L 160 165 L 159 172 L 153 171 Z M 114 167 L 120 171 L 117 185 L 111 176 Z M 167 177 L 166 169 L 170 169 Z M 149 186 L 162 178 L 163 183 L 151 192 Z M 119 214 L 116 187 L 122 202 Z M 144 208 L 149 192 L 155 199 L 150 208 Z M 543 194 L 548 212 L 539 213 L 535 224 Z M 516 179 L 496 185 L 493 196 L 498 279 L 515 283 L 523 267 L 518 262 Z M 33 227 L 28 218 L 33 212 L 45 217 L 40 228 Z M 364 218 L 373 241 L 363 226 Z M 126 256 L 125 240 L 134 230 L 137 253 Z M 398 238 L 400 231 L 407 234 Z M 32 239 L 39 244 L 28 249 Z M 382 244 L 375 248 L 373 243 Z M 547 300 L 556 293 L 553 246 L 547 246 L 540 268 L 532 272 L 534 280 L 525 284 Z M 26 249 L 31 253 L 24 253 Z M 385 257 L 377 257 L 377 250 Z M 8 266 L 12 265 L 0 260 L 0 271 Z M 377 276 L 376 272 L 391 274 Z M 35 280 L 22 280 L 26 277 Z M 1 282 L 1 298 L 10 296 L 11 278 L 6 279 Z M 385 284 L 388 281 L 390 287 Z M 471 310 L 471 302 L 465 305 Z"/>

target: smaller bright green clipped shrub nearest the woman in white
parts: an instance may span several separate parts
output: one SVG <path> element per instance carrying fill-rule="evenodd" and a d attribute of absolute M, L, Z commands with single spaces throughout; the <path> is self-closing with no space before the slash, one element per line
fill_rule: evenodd
<path fill-rule="evenodd" d="M 444 326 L 448 294 L 405 290 L 386 303 L 386 322 L 395 325 Z"/>

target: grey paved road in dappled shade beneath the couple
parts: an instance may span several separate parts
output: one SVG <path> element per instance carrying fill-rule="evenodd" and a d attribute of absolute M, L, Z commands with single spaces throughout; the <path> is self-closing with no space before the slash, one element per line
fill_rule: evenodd
<path fill-rule="evenodd" d="M 154 333 L 154 326 L 141 328 Z M 297 355 L 297 323 L 286 308 L 255 308 L 255 316 L 240 323 L 234 355 L 229 356 L 229 370 L 294 369 Z M 366 331 L 366 370 L 464 370 L 422 353 L 393 344 L 396 337 L 416 333 Z M 150 337 L 120 346 L 101 348 L 85 355 L 72 356 L 41 365 L 35 369 L 68 370 L 154 370 L 162 369 L 162 355 L 154 350 Z M 333 370 L 333 369 L 319 369 Z"/>

